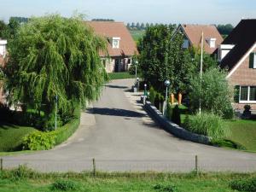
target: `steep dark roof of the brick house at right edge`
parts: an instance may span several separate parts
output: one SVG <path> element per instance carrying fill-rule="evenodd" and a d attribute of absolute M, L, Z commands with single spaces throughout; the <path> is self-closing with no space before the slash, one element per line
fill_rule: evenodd
<path fill-rule="evenodd" d="M 220 67 L 229 71 L 236 66 L 248 49 L 256 42 L 256 20 L 241 20 L 222 44 L 234 44 L 235 47 L 224 57 Z"/>

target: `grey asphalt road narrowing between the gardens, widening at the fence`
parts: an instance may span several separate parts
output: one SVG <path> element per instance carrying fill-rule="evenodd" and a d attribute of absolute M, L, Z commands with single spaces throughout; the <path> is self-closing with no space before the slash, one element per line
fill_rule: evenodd
<path fill-rule="evenodd" d="M 198 155 L 203 171 L 256 172 L 256 154 L 191 143 L 160 129 L 143 111 L 133 80 L 107 84 L 101 99 L 82 113 L 79 130 L 66 143 L 34 154 L 3 157 L 4 167 L 26 164 L 42 172 L 190 172 Z"/>

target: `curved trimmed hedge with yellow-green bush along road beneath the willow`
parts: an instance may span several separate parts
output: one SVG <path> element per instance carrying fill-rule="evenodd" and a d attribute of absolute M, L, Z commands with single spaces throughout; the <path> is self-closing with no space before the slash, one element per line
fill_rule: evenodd
<path fill-rule="evenodd" d="M 80 108 L 75 108 L 73 119 L 66 125 L 61 126 L 56 131 L 43 132 L 34 131 L 23 138 L 23 149 L 29 150 L 48 150 L 55 145 L 61 144 L 71 137 L 79 128 Z"/>

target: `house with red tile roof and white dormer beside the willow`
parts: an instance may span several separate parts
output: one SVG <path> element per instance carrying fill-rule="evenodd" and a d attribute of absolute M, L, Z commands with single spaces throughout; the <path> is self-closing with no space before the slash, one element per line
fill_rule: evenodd
<path fill-rule="evenodd" d="M 108 73 L 124 72 L 131 66 L 137 46 L 123 22 L 87 21 L 96 34 L 108 40 L 108 55 L 100 53 Z"/>

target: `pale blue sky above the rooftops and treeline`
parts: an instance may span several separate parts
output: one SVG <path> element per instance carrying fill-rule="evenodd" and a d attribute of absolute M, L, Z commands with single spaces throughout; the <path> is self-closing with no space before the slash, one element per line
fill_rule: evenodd
<path fill-rule="evenodd" d="M 227 24 L 256 19 L 256 0 L 0 0 L 0 20 L 75 12 L 127 22 Z"/>

